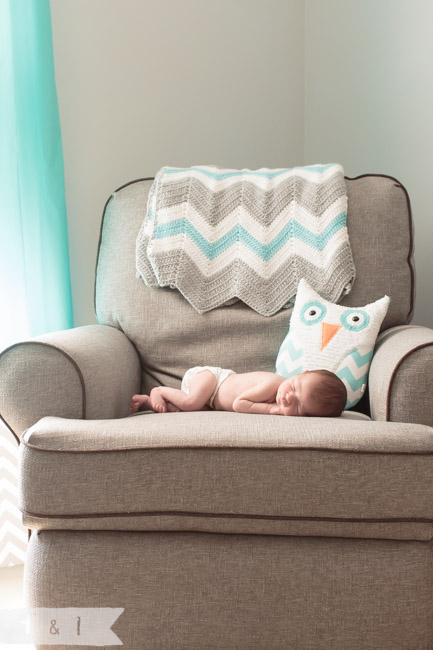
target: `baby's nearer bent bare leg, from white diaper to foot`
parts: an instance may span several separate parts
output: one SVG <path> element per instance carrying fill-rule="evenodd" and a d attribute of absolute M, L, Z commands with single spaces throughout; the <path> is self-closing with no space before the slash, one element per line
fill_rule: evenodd
<path fill-rule="evenodd" d="M 181 411 L 200 411 L 215 390 L 216 383 L 213 372 L 202 370 L 191 379 L 188 395 L 177 388 L 158 386 L 150 393 L 152 408 L 165 413 L 169 401 Z"/>

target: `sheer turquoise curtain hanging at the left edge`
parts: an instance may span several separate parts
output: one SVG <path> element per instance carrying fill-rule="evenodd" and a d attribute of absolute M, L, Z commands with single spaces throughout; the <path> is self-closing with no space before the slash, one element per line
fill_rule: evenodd
<path fill-rule="evenodd" d="M 0 0 L 0 349 L 72 327 L 49 0 Z"/>

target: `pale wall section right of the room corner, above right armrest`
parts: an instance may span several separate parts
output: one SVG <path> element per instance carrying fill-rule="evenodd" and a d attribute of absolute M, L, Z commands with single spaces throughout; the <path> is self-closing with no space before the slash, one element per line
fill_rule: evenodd
<path fill-rule="evenodd" d="M 305 1 L 305 160 L 397 177 L 415 222 L 414 323 L 433 327 L 433 2 Z"/>

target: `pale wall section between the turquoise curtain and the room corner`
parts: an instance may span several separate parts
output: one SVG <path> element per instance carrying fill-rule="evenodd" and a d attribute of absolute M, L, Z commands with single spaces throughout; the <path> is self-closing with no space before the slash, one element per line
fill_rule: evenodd
<path fill-rule="evenodd" d="M 51 0 L 75 324 L 102 208 L 162 165 L 303 158 L 303 0 Z"/>

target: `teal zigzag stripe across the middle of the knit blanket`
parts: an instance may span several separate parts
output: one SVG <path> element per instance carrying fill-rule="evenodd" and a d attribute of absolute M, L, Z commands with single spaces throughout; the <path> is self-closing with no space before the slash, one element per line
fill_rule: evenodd
<path fill-rule="evenodd" d="M 318 251 L 322 251 L 331 237 L 338 230 L 346 227 L 346 216 L 346 212 L 339 214 L 320 235 L 316 235 L 304 226 L 301 226 L 296 220 L 293 220 L 269 244 L 259 242 L 240 224 L 237 224 L 218 241 L 208 242 L 186 219 L 176 219 L 170 223 L 157 226 L 153 236 L 154 239 L 163 239 L 185 233 L 195 242 L 209 260 L 215 259 L 235 242 L 241 241 L 254 251 L 258 257 L 268 262 L 292 237 L 304 241 Z"/>

